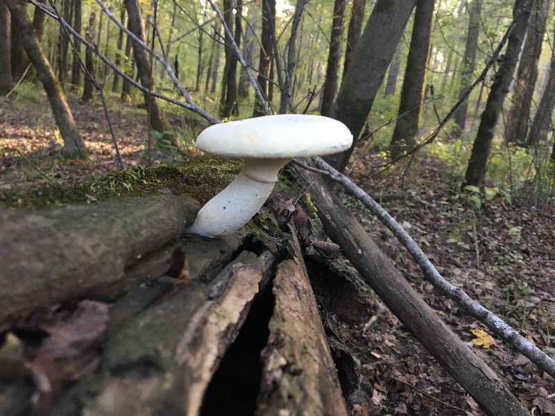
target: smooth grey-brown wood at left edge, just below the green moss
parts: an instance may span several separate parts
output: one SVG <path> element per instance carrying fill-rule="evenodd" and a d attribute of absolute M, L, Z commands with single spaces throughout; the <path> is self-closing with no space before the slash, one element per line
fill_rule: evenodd
<path fill-rule="evenodd" d="M 118 295 L 124 268 L 178 236 L 198 202 L 151 196 L 49 210 L 0 208 L 0 330 L 71 299 Z"/>

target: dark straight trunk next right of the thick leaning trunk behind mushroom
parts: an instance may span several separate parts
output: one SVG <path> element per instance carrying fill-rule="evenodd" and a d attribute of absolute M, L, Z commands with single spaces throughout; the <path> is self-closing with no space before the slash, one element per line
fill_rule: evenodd
<path fill-rule="evenodd" d="M 422 103 L 424 103 L 429 51 L 432 46 L 433 17 L 434 0 L 416 2 L 409 58 L 407 58 L 407 68 L 404 71 L 401 90 L 399 118 L 395 123 L 395 130 L 393 130 L 393 137 L 389 144 L 393 159 L 412 148 L 418 135 Z"/>

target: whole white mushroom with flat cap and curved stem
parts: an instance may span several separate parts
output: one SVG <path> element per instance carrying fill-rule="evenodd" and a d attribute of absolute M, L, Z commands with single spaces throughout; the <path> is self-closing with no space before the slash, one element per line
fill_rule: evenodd
<path fill-rule="evenodd" d="M 242 158 L 244 165 L 185 231 L 208 237 L 231 234 L 264 205 L 278 172 L 293 157 L 339 153 L 351 144 L 349 129 L 323 116 L 283 114 L 212 125 L 200 133 L 196 146 L 214 155 Z"/>

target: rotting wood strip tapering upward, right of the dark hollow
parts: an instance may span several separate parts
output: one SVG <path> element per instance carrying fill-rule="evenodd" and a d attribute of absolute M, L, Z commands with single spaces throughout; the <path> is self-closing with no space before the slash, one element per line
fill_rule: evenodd
<path fill-rule="evenodd" d="M 256 415 L 347 415 L 300 247 L 278 266 Z"/>

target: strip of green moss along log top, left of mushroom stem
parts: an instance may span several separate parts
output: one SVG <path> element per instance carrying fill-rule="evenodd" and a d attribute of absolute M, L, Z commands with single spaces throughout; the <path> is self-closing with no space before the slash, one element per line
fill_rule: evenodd
<path fill-rule="evenodd" d="M 119 196 L 144 196 L 169 189 L 174 195 L 189 195 L 201 204 L 219 193 L 239 173 L 235 159 L 193 157 L 182 166 L 155 168 L 135 166 L 111 171 L 97 180 L 84 180 L 69 186 L 50 186 L 22 191 L 0 191 L 0 205 L 8 207 L 50 207 L 78 202 L 105 200 Z"/>

